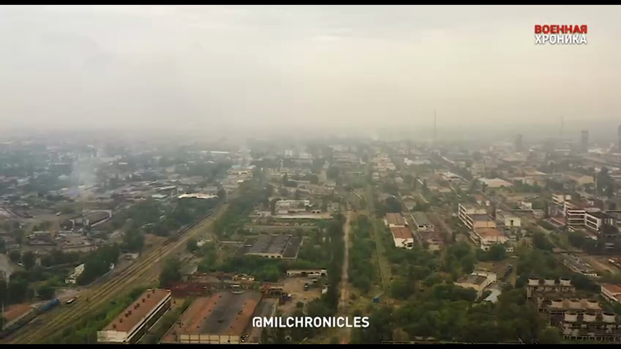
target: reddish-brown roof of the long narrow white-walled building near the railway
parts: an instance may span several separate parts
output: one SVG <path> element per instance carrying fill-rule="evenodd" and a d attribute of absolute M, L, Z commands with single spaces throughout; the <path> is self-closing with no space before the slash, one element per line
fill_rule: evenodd
<path fill-rule="evenodd" d="M 116 319 L 112 320 L 104 331 L 129 332 L 166 297 L 170 297 L 168 289 L 148 289 L 137 301 L 130 304 Z"/>

